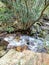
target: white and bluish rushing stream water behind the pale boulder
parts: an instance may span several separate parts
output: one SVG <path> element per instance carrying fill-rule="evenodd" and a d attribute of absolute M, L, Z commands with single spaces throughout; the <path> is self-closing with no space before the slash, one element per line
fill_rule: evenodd
<path fill-rule="evenodd" d="M 8 42 L 7 49 L 24 46 L 34 52 L 47 52 L 47 49 L 44 47 L 44 39 L 43 38 L 34 38 L 27 35 L 9 35 L 4 37 L 4 40 Z M 47 45 L 47 44 L 46 44 Z"/>

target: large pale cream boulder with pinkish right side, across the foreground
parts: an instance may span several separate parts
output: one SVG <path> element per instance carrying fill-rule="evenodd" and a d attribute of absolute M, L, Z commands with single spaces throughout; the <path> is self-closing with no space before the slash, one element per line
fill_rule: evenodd
<path fill-rule="evenodd" d="M 17 52 L 11 49 L 0 58 L 0 65 L 49 65 L 49 54 L 34 53 L 29 50 Z"/>

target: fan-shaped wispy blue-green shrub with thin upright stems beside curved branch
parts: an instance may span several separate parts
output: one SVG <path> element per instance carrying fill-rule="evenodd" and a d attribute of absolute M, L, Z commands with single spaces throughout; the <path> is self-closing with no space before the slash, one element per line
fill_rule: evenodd
<path fill-rule="evenodd" d="M 21 22 L 36 21 L 44 9 L 45 0 L 1 0 L 11 7 L 17 19 Z M 38 3 L 38 4 L 37 4 Z M 8 12 L 7 12 L 8 13 Z M 6 16 L 6 15 L 5 15 Z"/>

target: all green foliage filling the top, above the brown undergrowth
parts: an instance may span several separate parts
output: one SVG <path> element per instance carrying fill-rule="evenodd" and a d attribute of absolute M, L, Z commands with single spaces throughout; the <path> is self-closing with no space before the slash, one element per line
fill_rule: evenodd
<path fill-rule="evenodd" d="M 5 5 L 0 7 L 0 22 L 6 23 L 11 21 L 13 16 L 23 24 L 33 23 L 41 16 L 45 7 L 45 0 L 0 0 L 0 2 Z"/>

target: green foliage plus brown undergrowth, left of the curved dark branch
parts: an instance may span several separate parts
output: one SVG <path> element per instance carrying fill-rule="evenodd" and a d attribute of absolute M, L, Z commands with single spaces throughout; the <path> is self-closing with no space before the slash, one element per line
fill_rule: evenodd
<path fill-rule="evenodd" d="M 4 25 L 7 29 L 3 27 L 3 30 L 10 32 L 14 31 L 14 28 L 16 30 L 20 28 L 17 23 L 13 25 L 15 20 L 22 23 L 20 23 L 20 26 L 23 25 L 20 29 L 29 29 L 33 23 L 41 18 L 49 6 L 49 0 L 0 0 L 0 3 L 2 3 L 0 7 L 0 28 L 2 29 Z"/>

